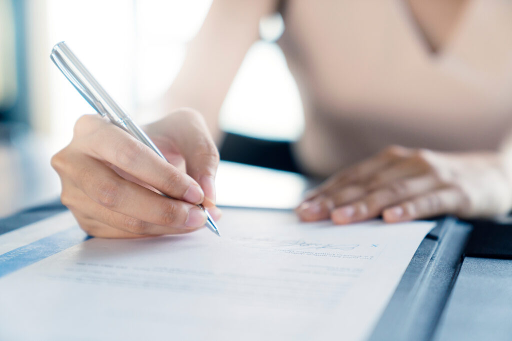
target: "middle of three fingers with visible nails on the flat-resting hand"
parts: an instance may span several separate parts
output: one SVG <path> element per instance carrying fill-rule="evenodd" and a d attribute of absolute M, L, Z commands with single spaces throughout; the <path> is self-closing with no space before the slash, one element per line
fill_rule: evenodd
<path fill-rule="evenodd" d="M 331 219 L 336 224 L 347 224 L 375 218 L 385 208 L 432 191 L 439 186 L 439 181 L 432 175 L 396 180 L 389 186 L 369 193 L 357 202 L 336 208 L 331 212 Z"/>

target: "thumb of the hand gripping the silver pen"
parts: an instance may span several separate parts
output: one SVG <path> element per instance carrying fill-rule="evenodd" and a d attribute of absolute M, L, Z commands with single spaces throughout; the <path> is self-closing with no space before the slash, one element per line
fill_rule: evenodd
<path fill-rule="evenodd" d="M 204 206 L 214 206 L 219 151 L 202 115 L 192 109 L 180 109 L 169 119 L 173 119 L 175 123 L 169 125 L 170 136 L 185 159 L 187 173 L 203 189 Z"/>

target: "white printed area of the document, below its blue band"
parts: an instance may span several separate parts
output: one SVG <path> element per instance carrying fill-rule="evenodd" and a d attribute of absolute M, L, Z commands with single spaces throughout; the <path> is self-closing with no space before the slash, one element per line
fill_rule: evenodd
<path fill-rule="evenodd" d="M 365 339 L 434 227 L 248 209 L 218 225 L 93 238 L 0 277 L 0 339 Z"/>

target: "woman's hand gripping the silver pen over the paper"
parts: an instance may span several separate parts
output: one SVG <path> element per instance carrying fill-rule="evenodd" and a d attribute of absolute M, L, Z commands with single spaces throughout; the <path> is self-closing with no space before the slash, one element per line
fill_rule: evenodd
<path fill-rule="evenodd" d="M 144 130 L 170 163 L 98 115 L 81 117 L 71 143 L 52 157 L 61 201 L 89 235 L 195 231 L 206 222 L 199 203 L 219 218 L 214 184 L 219 153 L 201 115 L 179 109 Z"/>

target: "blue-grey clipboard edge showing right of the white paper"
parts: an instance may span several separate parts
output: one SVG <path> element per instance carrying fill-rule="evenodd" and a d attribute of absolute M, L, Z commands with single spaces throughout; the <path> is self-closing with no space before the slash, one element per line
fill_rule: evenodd
<path fill-rule="evenodd" d="M 472 226 L 437 219 L 418 246 L 369 340 L 431 340 L 457 279 Z"/>

